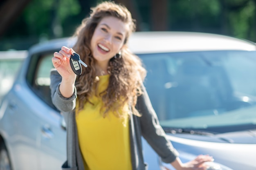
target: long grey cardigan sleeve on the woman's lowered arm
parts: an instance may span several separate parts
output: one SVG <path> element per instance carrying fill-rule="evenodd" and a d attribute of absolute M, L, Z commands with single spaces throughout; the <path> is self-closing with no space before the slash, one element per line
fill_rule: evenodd
<path fill-rule="evenodd" d="M 159 124 L 159 120 L 143 84 L 142 90 L 143 94 L 138 97 L 136 106 L 142 115 L 139 118 L 141 134 L 159 157 L 162 158 L 162 161 L 171 163 L 178 157 L 178 152 L 173 148 L 171 142 L 166 139 L 166 134 Z"/>

